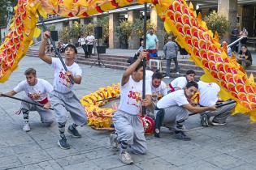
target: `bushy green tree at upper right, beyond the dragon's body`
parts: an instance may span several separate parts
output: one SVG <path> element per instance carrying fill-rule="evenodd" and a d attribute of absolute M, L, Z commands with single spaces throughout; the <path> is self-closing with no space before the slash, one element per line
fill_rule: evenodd
<path fill-rule="evenodd" d="M 210 15 L 206 16 L 204 21 L 213 33 L 218 32 L 220 38 L 225 32 L 228 32 L 231 26 L 231 23 L 224 16 L 219 16 L 216 11 L 213 11 Z"/>

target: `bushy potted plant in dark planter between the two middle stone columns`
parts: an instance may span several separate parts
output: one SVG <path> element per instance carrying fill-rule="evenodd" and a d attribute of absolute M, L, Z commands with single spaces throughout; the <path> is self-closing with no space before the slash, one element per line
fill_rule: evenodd
<path fill-rule="evenodd" d="M 128 49 L 128 40 L 132 35 L 132 23 L 126 20 L 121 21 L 115 32 L 119 36 L 120 48 Z"/>

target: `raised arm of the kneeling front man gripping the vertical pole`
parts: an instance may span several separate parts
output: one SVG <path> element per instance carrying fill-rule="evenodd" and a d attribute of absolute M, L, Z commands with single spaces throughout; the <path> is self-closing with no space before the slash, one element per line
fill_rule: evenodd
<path fill-rule="evenodd" d="M 136 67 L 140 64 L 140 62 L 143 60 L 143 58 L 146 57 L 146 55 L 147 55 L 146 52 L 141 52 L 137 61 L 133 62 L 131 66 L 128 66 L 128 68 L 125 70 L 123 77 L 122 77 L 122 83 L 121 83 L 122 86 L 124 86 L 124 84 L 128 83 L 130 75 L 132 74 L 133 71 L 135 71 Z"/>

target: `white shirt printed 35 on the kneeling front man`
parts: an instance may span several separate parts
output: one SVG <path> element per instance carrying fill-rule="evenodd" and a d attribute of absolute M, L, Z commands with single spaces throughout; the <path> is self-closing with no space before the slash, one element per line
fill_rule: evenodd
<path fill-rule="evenodd" d="M 132 115 L 140 114 L 142 100 L 142 80 L 135 82 L 130 76 L 128 83 L 120 88 L 119 110 Z M 145 95 L 151 95 L 150 84 L 145 83 Z"/>

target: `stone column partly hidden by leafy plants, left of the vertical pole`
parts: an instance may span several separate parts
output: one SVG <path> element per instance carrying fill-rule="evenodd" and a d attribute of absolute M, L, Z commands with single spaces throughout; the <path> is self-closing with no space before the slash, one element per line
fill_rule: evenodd
<path fill-rule="evenodd" d="M 136 10 L 136 11 L 128 11 L 128 21 L 131 23 L 134 23 L 135 19 L 140 19 L 140 11 Z M 132 32 L 132 36 L 129 40 L 129 46 L 128 49 L 139 49 L 139 45 L 140 45 L 140 37 L 133 35 Z"/>

